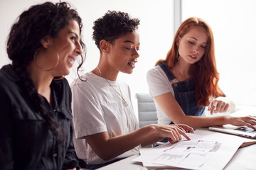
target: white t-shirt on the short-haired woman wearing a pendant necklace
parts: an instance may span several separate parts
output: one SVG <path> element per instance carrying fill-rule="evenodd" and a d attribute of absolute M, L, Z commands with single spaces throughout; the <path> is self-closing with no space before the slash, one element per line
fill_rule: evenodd
<path fill-rule="evenodd" d="M 122 96 L 128 104 L 124 107 L 122 98 L 117 94 L 117 92 L 120 94 L 117 81 L 108 80 L 116 92 L 106 79 L 92 72 L 83 74 L 82 79 L 87 81 L 75 79 L 71 84 L 75 152 L 78 158 L 84 159 L 87 164 L 102 164 L 106 161 L 98 157 L 87 141 L 81 137 L 99 132 L 108 132 L 110 137 L 125 135 L 138 130 L 139 125 L 134 115 L 127 84 L 119 82 Z M 114 159 L 138 154 L 139 148 L 140 146 L 137 146 Z"/>

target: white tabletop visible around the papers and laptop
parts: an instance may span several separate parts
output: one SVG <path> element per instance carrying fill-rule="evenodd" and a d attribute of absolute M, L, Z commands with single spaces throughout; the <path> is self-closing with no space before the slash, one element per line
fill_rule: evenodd
<path fill-rule="evenodd" d="M 215 133 L 208 128 L 201 128 L 195 131 L 198 135 L 206 135 Z M 228 134 L 227 134 L 228 135 Z M 247 139 L 247 138 L 245 138 Z M 127 159 L 123 159 L 119 162 L 115 162 L 113 164 L 104 166 L 99 170 L 153 170 L 154 168 L 146 168 L 142 166 L 140 162 L 134 162 L 132 159 L 138 157 L 139 154 L 134 155 L 132 157 L 128 157 Z M 218 164 L 218 162 L 216 162 Z M 178 168 L 177 168 L 178 169 Z M 234 157 L 230 160 L 227 166 L 225 166 L 226 170 L 234 170 L 234 169 L 256 169 L 256 144 L 250 145 L 247 147 L 239 148 L 235 153 Z"/>

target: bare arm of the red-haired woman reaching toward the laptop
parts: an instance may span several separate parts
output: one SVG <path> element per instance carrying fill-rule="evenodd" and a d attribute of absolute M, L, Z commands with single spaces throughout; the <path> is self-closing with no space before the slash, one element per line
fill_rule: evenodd
<path fill-rule="evenodd" d="M 250 128 L 254 128 L 252 125 L 256 125 L 256 119 L 251 116 L 244 117 L 231 117 L 229 115 L 216 116 L 216 117 L 199 117 L 193 115 L 185 115 L 178 102 L 172 96 L 171 93 L 162 94 L 154 97 L 159 107 L 169 116 L 169 118 L 176 123 L 183 123 L 190 125 L 193 128 L 203 128 L 213 125 L 247 125 Z"/>

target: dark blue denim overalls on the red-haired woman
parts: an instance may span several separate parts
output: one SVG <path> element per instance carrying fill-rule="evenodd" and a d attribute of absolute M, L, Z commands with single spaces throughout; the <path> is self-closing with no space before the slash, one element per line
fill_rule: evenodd
<path fill-rule="evenodd" d="M 159 66 L 163 69 L 164 73 L 168 77 L 169 81 L 175 79 L 174 74 L 172 74 L 169 67 L 166 65 L 165 62 L 159 62 Z M 198 107 L 196 104 L 195 98 L 195 90 L 196 87 L 193 84 L 193 80 L 181 81 L 171 84 L 172 88 L 174 89 L 175 99 L 178 102 L 179 106 L 181 106 L 183 112 L 186 115 L 196 115 L 201 116 L 205 107 Z M 174 124 L 172 121 L 170 124 Z M 164 142 L 162 140 L 161 142 Z M 167 140 L 166 140 L 167 142 Z"/>

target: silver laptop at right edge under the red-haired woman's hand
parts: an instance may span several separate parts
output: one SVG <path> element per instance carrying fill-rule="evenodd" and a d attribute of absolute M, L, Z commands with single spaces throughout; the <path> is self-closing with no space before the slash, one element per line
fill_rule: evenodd
<path fill-rule="evenodd" d="M 255 128 L 256 128 L 256 125 L 255 125 Z M 212 127 L 209 127 L 209 130 L 230 133 L 233 135 L 240 135 L 243 137 L 256 138 L 256 130 L 249 128 L 247 126 L 233 126 L 233 125 L 212 126 Z"/>

